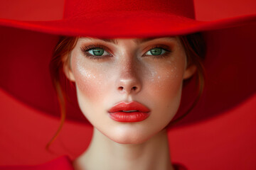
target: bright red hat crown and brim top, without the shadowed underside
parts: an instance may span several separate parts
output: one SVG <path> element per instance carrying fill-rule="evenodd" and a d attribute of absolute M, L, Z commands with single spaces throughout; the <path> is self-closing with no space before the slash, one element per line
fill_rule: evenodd
<path fill-rule="evenodd" d="M 50 21 L 16 21 L 0 18 L 9 26 L 56 35 L 97 38 L 147 38 L 195 33 L 255 22 L 256 14 L 225 20 L 194 20 L 193 0 L 162 1 L 66 0 L 64 16 Z M 72 11 L 72 12 L 71 12 Z M 100 12 L 99 12 L 100 11 Z M 161 31 L 159 31 L 161 30 Z"/>

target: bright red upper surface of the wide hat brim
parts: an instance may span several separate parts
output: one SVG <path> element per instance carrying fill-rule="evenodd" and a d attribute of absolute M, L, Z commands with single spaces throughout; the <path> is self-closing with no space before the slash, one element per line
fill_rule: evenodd
<path fill-rule="evenodd" d="M 114 11 L 86 13 L 82 16 L 56 21 L 15 21 L 0 18 L 1 26 L 34 30 L 41 33 L 97 38 L 144 38 L 185 35 L 242 26 L 255 22 L 256 14 L 224 18 L 215 21 L 196 21 L 171 13 L 152 11 Z"/>

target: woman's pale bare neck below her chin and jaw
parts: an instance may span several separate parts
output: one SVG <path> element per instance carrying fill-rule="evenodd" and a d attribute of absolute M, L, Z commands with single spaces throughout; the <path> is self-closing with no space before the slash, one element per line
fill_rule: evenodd
<path fill-rule="evenodd" d="M 142 144 L 113 142 L 94 129 L 90 147 L 73 162 L 75 169 L 173 170 L 166 130 Z"/>

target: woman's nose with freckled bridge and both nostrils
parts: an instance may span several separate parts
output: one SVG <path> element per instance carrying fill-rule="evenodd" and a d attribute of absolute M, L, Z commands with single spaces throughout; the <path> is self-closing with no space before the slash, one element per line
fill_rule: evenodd
<path fill-rule="evenodd" d="M 119 76 L 117 78 L 117 91 L 124 94 L 137 94 L 142 89 L 139 77 L 139 67 L 136 62 L 124 61 L 119 65 Z"/>

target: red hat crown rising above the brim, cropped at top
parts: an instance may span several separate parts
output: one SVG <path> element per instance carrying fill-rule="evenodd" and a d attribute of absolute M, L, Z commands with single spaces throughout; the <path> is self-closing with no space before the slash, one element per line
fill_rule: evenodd
<path fill-rule="evenodd" d="M 65 0 L 64 18 L 115 11 L 157 11 L 195 18 L 193 0 Z"/>

